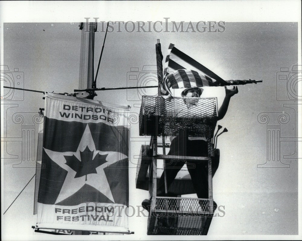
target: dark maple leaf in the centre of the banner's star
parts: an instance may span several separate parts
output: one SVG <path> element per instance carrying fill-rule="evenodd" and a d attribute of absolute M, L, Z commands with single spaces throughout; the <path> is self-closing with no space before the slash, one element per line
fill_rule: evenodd
<path fill-rule="evenodd" d="M 90 151 L 88 146 L 86 146 L 84 151 L 80 151 L 81 161 L 75 156 L 64 156 L 66 159 L 66 165 L 68 165 L 73 171 L 76 171 L 74 178 L 86 176 L 85 181 L 87 181 L 87 175 L 92 173 L 97 173 L 96 168 L 106 161 L 106 155 L 96 154 L 95 158 L 92 160 L 93 151 Z"/>

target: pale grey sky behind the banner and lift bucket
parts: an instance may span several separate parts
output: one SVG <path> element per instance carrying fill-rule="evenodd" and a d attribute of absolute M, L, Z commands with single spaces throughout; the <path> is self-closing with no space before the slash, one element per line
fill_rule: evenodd
<path fill-rule="evenodd" d="M 159 19 L 164 21 L 164 19 Z M 81 31 L 79 23 L 5 23 L 3 28 L 4 65 L 10 70 L 24 72 L 24 88 L 72 93 L 78 87 Z M 116 26 L 115 26 L 116 27 Z M 169 25 L 171 27 L 171 24 Z M 293 143 L 281 144 L 281 159 L 290 168 L 257 168 L 267 159 L 266 125 L 257 121 L 261 112 L 286 112 L 290 117 L 281 127 L 282 137 L 297 134 L 295 112 L 276 100 L 276 74 L 280 67 L 289 67 L 298 62 L 298 24 L 284 23 L 232 23 L 224 24 L 223 32 L 121 32 L 115 29 L 108 33 L 105 42 L 97 87 L 135 85 L 127 81 L 130 68 L 156 65 L 156 39 L 162 43 L 162 53 L 168 53 L 170 43 L 198 60 L 225 80 L 262 79 L 257 85 L 239 86 L 239 93 L 231 98 L 226 116 L 218 124 L 229 132 L 218 139 L 220 166 L 213 179 L 214 200 L 225 206 L 226 215 L 214 218 L 208 234 L 297 234 L 298 210 L 298 164 L 297 159 L 283 159 L 295 151 Z M 104 33 L 95 34 L 95 70 L 104 39 Z M 152 74 L 151 74 L 152 76 Z M 152 79 L 152 78 L 151 78 Z M 156 82 L 150 82 L 150 85 Z M 212 87 L 207 95 L 217 96 L 218 105 L 223 100 L 223 87 Z M 146 95 L 156 90 L 146 89 Z M 23 94 L 15 91 L 15 95 Z M 139 113 L 140 95 L 137 90 L 99 91 L 96 100 L 129 104 L 131 112 Z M 20 138 L 20 125 L 11 122 L 16 112 L 38 112 L 44 107 L 41 93 L 24 93 L 23 101 L 7 102 L 7 137 Z M 18 106 L 8 109 L 8 104 Z M 13 107 L 13 106 L 11 106 Z M 292 106 L 295 108 L 295 106 Z M 143 140 L 138 134 L 138 124 L 131 126 L 131 140 Z M 146 141 L 149 142 L 148 137 Z M 137 160 L 143 142 L 130 145 L 130 200 L 129 204 L 140 205 L 148 197 L 147 191 L 135 188 Z M 21 155 L 21 143 L 10 142 L 7 152 Z M 5 159 L 4 199 L 2 207 L 8 208 L 14 198 L 34 175 L 32 168 L 12 168 L 19 159 Z M 18 223 L 18 231 L 32 234 L 34 181 L 26 187 L 16 202 L 5 214 L 5 226 Z M 2 212 L 3 213 L 3 212 Z M 16 220 L 18 219 L 18 221 Z M 146 239 L 146 217 L 129 219 L 129 229 L 137 239 Z M 131 237 L 132 238 L 132 237 Z M 150 238 L 150 237 L 148 237 Z"/>

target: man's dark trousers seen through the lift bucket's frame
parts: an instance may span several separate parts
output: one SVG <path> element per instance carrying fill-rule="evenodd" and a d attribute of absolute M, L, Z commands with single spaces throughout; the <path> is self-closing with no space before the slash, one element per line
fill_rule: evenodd
<path fill-rule="evenodd" d="M 207 156 L 208 147 L 207 142 L 204 140 L 188 140 L 187 137 L 178 136 L 174 138 L 170 145 L 168 155 L 177 156 Z M 208 187 L 208 169 L 207 161 L 175 161 L 173 159 L 166 160 L 166 176 L 167 185 L 169 186 L 174 181 L 178 171 L 187 164 L 188 171 L 191 176 L 193 187 L 196 191 L 198 198 L 209 197 Z M 212 174 L 214 175 L 219 165 L 219 160 L 212 161 Z M 165 181 L 164 173 L 160 177 L 157 187 L 157 196 L 165 196 Z"/>

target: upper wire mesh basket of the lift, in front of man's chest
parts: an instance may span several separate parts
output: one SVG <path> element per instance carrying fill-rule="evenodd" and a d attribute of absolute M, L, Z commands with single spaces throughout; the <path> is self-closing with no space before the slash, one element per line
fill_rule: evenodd
<path fill-rule="evenodd" d="M 217 123 L 217 98 L 142 96 L 140 135 L 176 136 L 184 130 L 190 137 L 211 138 Z"/>

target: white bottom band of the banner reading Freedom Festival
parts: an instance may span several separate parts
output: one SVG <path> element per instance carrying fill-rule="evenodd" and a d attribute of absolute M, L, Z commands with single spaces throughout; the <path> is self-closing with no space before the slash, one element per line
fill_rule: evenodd
<path fill-rule="evenodd" d="M 127 206 L 83 203 L 62 206 L 38 203 L 36 228 L 128 233 Z"/>

